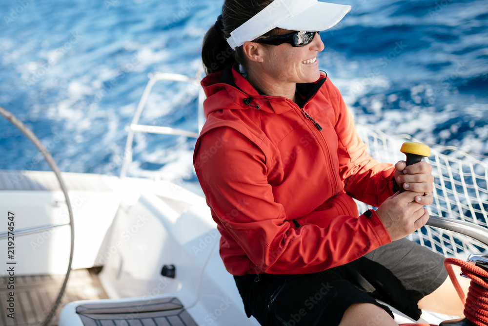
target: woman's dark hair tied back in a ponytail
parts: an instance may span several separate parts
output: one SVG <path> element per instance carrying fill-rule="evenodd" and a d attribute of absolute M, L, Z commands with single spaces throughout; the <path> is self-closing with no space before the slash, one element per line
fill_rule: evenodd
<path fill-rule="evenodd" d="M 203 37 L 202 60 L 205 73 L 208 75 L 215 71 L 224 70 L 226 65 L 238 62 L 247 68 L 243 47 L 238 46 L 233 50 L 226 39 L 230 33 L 244 22 L 254 17 L 273 0 L 225 0 L 222 6 L 222 23 L 220 28 L 212 25 Z M 219 25 L 218 24 L 218 25 Z M 274 35 L 275 28 L 263 36 Z"/>

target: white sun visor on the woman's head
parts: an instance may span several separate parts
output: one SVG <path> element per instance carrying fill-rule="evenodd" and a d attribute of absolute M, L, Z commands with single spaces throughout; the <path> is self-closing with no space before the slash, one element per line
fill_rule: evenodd
<path fill-rule="evenodd" d="M 227 43 L 235 49 L 275 27 L 292 31 L 323 31 L 337 24 L 349 10 L 349 5 L 318 0 L 274 0 L 232 31 Z"/>

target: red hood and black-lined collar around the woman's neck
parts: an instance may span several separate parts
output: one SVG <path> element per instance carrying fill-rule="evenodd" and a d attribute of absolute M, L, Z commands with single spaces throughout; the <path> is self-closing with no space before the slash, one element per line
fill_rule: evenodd
<path fill-rule="evenodd" d="M 267 96 L 256 90 L 238 71 L 239 64 L 227 65 L 224 70 L 211 73 L 203 78 L 201 85 L 206 99 L 203 102 L 205 119 L 221 109 L 260 109 L 269 113 L 284 113 L 294 104 L 282 96 Z M 297 84 L 300 94 L 308 101 L 322 86 L 326 75 L 314 83 Z M 305 102 L 306 102 L 305 101 Z"/>

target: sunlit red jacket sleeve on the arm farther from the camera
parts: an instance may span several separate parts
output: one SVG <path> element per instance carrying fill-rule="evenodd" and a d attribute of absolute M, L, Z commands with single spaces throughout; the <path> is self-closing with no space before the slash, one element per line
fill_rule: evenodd
<path fill-rule="evenodd" d="M 378 207 L 398 190 L 394 181 L 394 167 L 389 163 L 378 163 L 366 152 L 366 144 L 357 133 L 351 112 L 339 90 L 331 83 L 328 87 L 337 117 L 334 128 L 338 137 L 339 173 L 344 189 L 349 196 Z"/>

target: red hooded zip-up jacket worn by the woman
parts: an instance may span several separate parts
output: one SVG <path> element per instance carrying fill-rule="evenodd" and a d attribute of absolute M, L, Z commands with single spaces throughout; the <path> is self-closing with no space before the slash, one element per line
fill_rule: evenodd
<path fill-rule="evenodd" d="M 237 68 L 203 79 L 207 120 L 194 152 L 227 270 L 318 272 L 390 242 L 351 197 L 378 207 L 394 193 L 394 168 L 366 153 L 337 88 L 324 74 L 298 84 L 301 109 L 260 94 Z"/>

